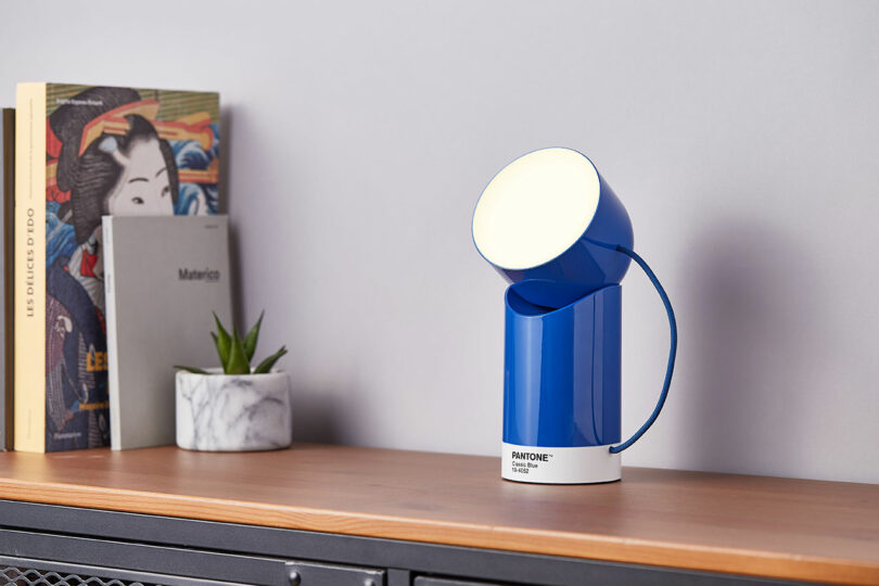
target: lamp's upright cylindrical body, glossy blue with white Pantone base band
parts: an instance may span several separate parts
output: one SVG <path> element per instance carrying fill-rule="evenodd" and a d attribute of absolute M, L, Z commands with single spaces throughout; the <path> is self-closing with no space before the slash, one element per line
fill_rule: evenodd
<path fill-rule="evenodd" d="M 558 308 L 506 294 L 502 475 L 578 484 L 620 477 L 621 286 Z"/>

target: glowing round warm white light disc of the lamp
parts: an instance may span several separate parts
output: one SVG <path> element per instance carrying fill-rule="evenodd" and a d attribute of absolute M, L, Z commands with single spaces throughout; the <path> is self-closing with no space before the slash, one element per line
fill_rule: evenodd
<path fill-rule="evenodd" d="M 528 153 L 483 191 L 473 213 L 473 241 L 497 267 L 543 265 L 583 235 L 600 192 L 598 171 L 583 154 L 562 148 Z"/>

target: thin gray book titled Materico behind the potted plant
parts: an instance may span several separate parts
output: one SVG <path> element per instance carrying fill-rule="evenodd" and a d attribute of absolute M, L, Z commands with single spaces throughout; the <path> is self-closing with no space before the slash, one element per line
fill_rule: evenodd
<path fill-rule="evenodd" d="M 231 320 L 226 216 L 104 216 L 110 446 L 175 442 L 175 365 L 219 365 Z"/>

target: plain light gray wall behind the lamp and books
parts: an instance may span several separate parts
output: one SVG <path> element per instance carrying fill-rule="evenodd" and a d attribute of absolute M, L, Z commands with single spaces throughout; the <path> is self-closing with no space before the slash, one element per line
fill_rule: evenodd
<path fill-rule="evenodd" d="M 241 313 L 300 438 L 499 454 L 504 164 L 590 155 L 680 323 L 629 466 L 879 483 L 879 3 L 4 2 L 24 80 L 216 89 Z M 623 425 L 667 327 L 624 286 Z"/>

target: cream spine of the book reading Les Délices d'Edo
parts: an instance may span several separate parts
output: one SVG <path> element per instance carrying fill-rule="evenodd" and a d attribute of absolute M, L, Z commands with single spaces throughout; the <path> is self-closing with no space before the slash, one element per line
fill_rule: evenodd
<path fill-rule="evenodd" d="M 15 449 L 46 451 L 46 84 L 15 102 Z"/>

